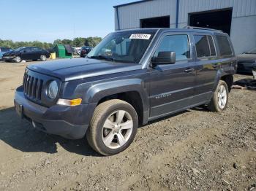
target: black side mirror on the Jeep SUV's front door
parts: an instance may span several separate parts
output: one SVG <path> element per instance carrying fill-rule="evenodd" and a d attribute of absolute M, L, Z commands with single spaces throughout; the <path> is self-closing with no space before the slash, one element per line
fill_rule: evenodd
<path fill-rule="evenodd" d="M 159 52 L 156 58 L 152 58 L 151 63 L 153 66 L 160 64 L 172 64 L 176 63 L 175 52 Z"/>

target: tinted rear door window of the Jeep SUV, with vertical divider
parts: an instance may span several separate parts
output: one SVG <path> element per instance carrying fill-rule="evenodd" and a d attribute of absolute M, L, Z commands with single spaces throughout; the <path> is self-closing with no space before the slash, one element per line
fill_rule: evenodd
<path fill-rule="evenodd" d="M 197 58 L 205 58 L 216 55 L 214 40 L 212 36 L 195 35 L 194 39 Z"/>

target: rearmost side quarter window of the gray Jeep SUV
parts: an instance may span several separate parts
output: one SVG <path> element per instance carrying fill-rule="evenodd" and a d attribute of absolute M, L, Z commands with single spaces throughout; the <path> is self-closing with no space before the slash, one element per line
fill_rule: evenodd
<path fill-rule="evenodd" d="M 227 36 L 216 36 L 217 43 L 219 44 L 219 53 L 221 56 L 230 56 L 232 55 L 232 50 L 230 42 L 227 39 Z"/>

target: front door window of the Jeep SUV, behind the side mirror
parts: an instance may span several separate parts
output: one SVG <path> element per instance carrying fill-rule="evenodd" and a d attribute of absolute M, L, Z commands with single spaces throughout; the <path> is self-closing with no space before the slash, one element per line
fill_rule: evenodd
<path fill-rule="evenodd" d="M 190 58 L 189 38 L 187 34 L 165 36 L 154 57 L 157 57 L 159 52 L 176 52 L 176 61 L 187 60 Z"/>

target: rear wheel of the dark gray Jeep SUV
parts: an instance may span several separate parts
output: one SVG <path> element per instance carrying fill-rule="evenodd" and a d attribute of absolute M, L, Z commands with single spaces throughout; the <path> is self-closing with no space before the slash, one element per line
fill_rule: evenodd
<path fill-rule="evenodd" d="M 227 108 L 228 103 L 228 87 L 225 81 L 219 80 L 219 84 L 214 91 L 210 104 L 207 108 L 212 112 L 222 112 Z"/>

